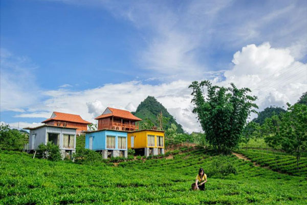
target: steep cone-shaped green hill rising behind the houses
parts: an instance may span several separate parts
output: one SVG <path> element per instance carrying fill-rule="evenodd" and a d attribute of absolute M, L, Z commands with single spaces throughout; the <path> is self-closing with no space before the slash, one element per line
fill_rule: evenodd
<path fill-rule="evenodd" d="M 148 118 L 157 126 L 157 115 L 161 111 L 164 117 L 169 118 L 168 123 L 165 126 L 163 126 L 164 129 L 168 129 L 170 128 L 171 124 L 175 124 L 177 126 L 177 132 L 183 133 L 182 126 L 176 122 L 174 117 L 168 113 L 166 108 L 164 108 L 164 106 L 161 103 L 159 103 L 155 97 L 148 96 L 146 99 L 144 99 L 144 101 L 140 103 L 136 112 L 131 112 L 131 113 L 143 119 L 143 121 L 146 118 Z M 141 124 L 142 124 L 142 121 L 140 122 L 140 125 Z"/>

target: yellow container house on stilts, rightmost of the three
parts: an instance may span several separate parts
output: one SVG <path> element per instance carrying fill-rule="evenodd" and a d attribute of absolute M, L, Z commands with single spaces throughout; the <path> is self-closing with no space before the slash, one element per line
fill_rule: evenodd
<path fill-rule="evenodd" d="M 128 132 L 128 149 L 135 149 L 136 154 L 158 155 L 164 154 L 164 131 L 139 130 Z"/>

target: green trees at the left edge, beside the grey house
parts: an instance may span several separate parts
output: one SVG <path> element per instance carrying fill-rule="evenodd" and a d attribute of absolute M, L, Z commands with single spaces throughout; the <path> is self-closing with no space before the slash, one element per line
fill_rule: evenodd
<path fill-rule="evenodd" d="M 9 125 L 0 125 L 0 149 L 21 151 L 28 143 L 28 135 L 11 129 Z"/>

